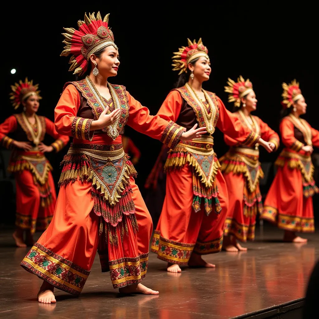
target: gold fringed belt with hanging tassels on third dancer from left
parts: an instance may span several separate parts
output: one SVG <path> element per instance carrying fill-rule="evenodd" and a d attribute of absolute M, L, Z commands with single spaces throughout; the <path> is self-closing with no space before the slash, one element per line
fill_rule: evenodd
<path fill-rule="evenodd" d="M 211 136 L 194 138 L 191 141 L 180 142 L 174 150 L 170 150 L 164 166 L 165 170 L 178 169 L 188 164 L 193 170 L 193 209 L 200 210 L 204 200 L 204 209 L 207 215 L 214 208 L 220 213 L 221 206 L 218 200 L 216 174 L 220 168 L 218 159 L 213 150 L 214 139 Z"/>

